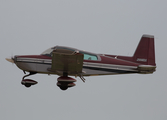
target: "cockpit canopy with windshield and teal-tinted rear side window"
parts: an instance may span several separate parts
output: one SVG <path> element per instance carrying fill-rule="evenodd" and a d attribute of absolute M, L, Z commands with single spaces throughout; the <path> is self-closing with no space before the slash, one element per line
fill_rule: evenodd
<path fill-rule="evenodd" d="M 82 53 L 84 55 L 84 60 L 99 60 L 99 57 L 96 54 L 85 52 L 82 50 L 77 50 L 75 48 L 64 47 L 64 46 L 55 46 L 55 47 L 49 48 L 49 49 L 45 50 L 41 55 L 46 55 L 46 56 L 51 57 L 53 51 L 60 52 L 60 53 L 61 52 L 63 52 L 63 53 L 79 52 L 79 53 Z"/>

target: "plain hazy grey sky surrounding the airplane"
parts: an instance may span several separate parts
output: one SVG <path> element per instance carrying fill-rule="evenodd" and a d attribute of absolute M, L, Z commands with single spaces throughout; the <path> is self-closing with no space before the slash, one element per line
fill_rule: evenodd
<path fill-rule="evenodd" d="M 166 120 L 165 0 L 0 0 L 1 120 Z M 57 75 L 37 74 L 31 88 L 6 57 L 63 45 L 132 56 L 143 34 L 155 36 L 157 71 L 77 78 L 61 91 Z"/>

